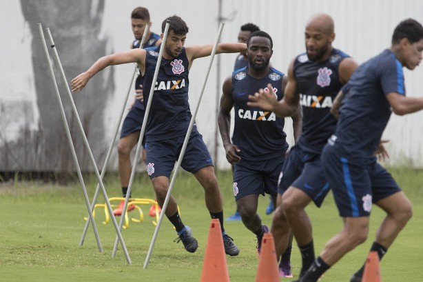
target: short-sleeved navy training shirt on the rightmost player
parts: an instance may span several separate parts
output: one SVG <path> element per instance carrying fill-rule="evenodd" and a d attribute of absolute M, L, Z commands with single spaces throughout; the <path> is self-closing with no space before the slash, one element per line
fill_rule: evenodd
<path fill-rule="evenodd" d="M 391 117 L 386 95 L 405 96 L 402 65 L 391 50 L 362 63 L 347 85 L 340 108 L 340 120 L 330 144 L 353 159 L 373 161 L 380 138 Z"/>

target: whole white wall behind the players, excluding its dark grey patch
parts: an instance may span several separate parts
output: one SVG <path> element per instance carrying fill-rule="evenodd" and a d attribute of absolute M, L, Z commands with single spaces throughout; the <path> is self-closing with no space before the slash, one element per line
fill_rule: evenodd
<path fill-rule="evenodd" d="M 43 1 L 40 1 L 40 5 Z M 384 48 L 389 48 L 391 34 L 395 26 L 403 19 L 412 17 L 423 22 L 423 1 L 420 0 L 225 0 L 223 3 L 223 17 L 225 28 L 221 41 L 236 41 L 238 30 L 247 22 L 256 23 L 274 39 L 274 57 L 272 64 L 287 71 L 289 61 L 300 52 L 304 52 L 304 29 L 307 19 L 315 12 L 331 14 L 336 23 L 336 41 L 334 46 L 353 56 L 358 63 L 373 57 Z M 129 49 L 132 42 L 130 28 L 130 12 L 136 6 L 146 6 L 152 18 L 152 30 L 160 31 L 161 21 L 172 14 L 178 14 L 185 19 L 190 30 L 186 45 L 213 43 L 218 28 L 218 1 L 169 0 L 158 1 L 114 1 L 105 0 L 103 27 L 99 37 L 112 39 L 109 43 L 110 52 Z M 59 14 L 58 16 L 59 17 Z M 78 21 L 79 19 L 75 19 Z M 0 103 L 4 101 L 29 101 L 34 104 L 36 95 L 32 85 L 33 74 L 30 67 L 30 46 L 28 41 L 28 24 L 21 17 L 20 2 L 15 0 L 0 1 L 0 34 L 2 46 L 0 52 Z M 54 34 L 54 26 L 48 27 Z M 71 28 L 71 27 L 70 27 Z M 56 45 L 58 42 L 56 42 Z M 60 54 L 60 53 L 59 53 Z M 236 54 L 219 55 L 221 60 L 220 81 L 231 73 Z M 97 58 L 77 58 L 94 62 Z M 190 74 L 190 102 L 192 110 L 198 101 L 205 71 L 209 58 L 198 59 Z M 116 90 L 110 99 L 104 122 L 110 130 L 105 137 L 105 143 L 110 143 L 111 134 L 118 121 L 116 117 L 123 103 L 123 96 L 128 88 L 133 66 L 115 66 L 114 83 Z M 81 70 L 82 72 L 83 70 Z M 216 128 L 216 92 L 220 85 L 216 85 L 216 58 L 211 69 L 203 101 L 197 116 L 197 124 L 203 134 L 211 154 L 214 154 L 214 134 Z M 406 90 L 409 96 L 420 96 L 423 68 L 413 72 L 405 71 Z M 69 78 L 70 79 L 70 78 Z M 83 93 L 82 93 L 83 94 Z M 1 104 L 0 104 L 1 105 Z M 37 126 L 37 108 L 32 107 L 33 127 Z M 25 123 L 23 117 L 0 116 L 0 125 L 12 120 L 14 123 Z M 391 154 L 389 164 L 408 164 L 422 166 L 423 137 L 419 121 L 423 113 L 411 114 L 408 117 L 393 115 L 389 122 L 384 138 L 390 139 L 388 145 Z M 6 124 L 7 125 L 7 124 Z M 0 129 L 2 135 L 14 138 L 13 127 Z M 289 130 L 288 122 L 287 132 Z M 6 129 L 5 129 L 6 128 Z M 4 132 L 7 130 L 8 132 Z M 5 134 L 7 133 L 7 134 Z M 218 167 L 229 168 L 218 136 Z M 289 139 L 292 143 L 292 139 Z M 116 159 L 114 160 L 116 161 Z"/>

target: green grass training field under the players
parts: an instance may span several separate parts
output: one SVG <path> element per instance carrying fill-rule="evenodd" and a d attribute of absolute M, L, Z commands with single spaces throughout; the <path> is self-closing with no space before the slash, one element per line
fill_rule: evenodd
<path fill-rule="evenodd" d="M 413 219 L 400 234 L 384 257 L 382 280 L 422 281 L 423 277 L 423 172 L 413 169 L 391 169 L 392 174 L 413 202 Z M 234 212 L 231 192 L 231 173 L 219 172 L 223 190 L 225 216 Z M 90 201 L 94 194 L 95 179 L 86 181 Z M 116 176 L 105 179 L 109 197 L 120 196 Z M 103 245 L 99 252 L 92 228 L 85 243 L 79 246 L 86 216 L 81 187 L 76 181 L 68 185 L 39 183 L 38 181 L 0 183 L 0 281 L 199 281 L 209 231 L 209 214 L 203 200 L 203 190 L 194 177 L 181 172 L 176 179 L 174 196 L 180 205 L 181 217 L 194 231 L 199 248 L 194 254 L 174 243 L 176 232 L 165 219 L 161 226 L 149 266 L 143 264 L 154 232 L 149 206 L 141 205 L 146 216 L 143 223 L 131 222 L 123 230 L 127 251 L 132 259 L 128 265 L 121 248 L 112 259 L 116 233 L 112 223 L 104 225 L 101 209 L 96 210 L 96 223 Z M 152 198 L 152 186 L 147 177 L 136 178 L 134 197 Z M 99 197 L 99 201 L 103 197 Z M 267 225 L 271 216 L 265 215 L 267 197 L 260 197 L 258 212 Z M 307 208 L 313 222 L 316 253 L 339 232 L 342 221 L 333 203 L 327 197 L 322 208 Z M 131 212 L 130 217 L 136 216 Z M 371 232 L 366 243 L 360 245 L 329 270 L 322 281 L 349 281 L 351 274 L 362 265 L 373 241 L 376 228 L 384 214 L 375 208 L 371 216 Z M 231 282 L 254 281 L 258 265 L 256 237 L 240 221 L 225 222 L 227 233 L 240 248 L 240 255 L 227 257 Z M 294 243 L 291 264 L 294 279 L 300 268 L 300 254 Z M 292 281 L 294 279 L 281 279 Z"/>

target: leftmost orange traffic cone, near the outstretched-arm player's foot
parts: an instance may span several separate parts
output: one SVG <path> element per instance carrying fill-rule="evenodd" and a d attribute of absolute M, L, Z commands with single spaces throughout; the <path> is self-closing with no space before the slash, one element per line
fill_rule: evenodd
<path fill-rule="evenodd" d="M 200 282 L 230 282 L 218 219 L 211 219 Z"/>

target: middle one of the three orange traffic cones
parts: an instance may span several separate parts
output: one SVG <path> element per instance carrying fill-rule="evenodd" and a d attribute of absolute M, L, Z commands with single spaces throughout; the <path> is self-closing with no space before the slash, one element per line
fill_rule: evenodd
<path fill-rule="evenodd" d="M 256 282 L 279 282 L 274 236 L 271 233 L 265 233 L 261 242 Z"/>

